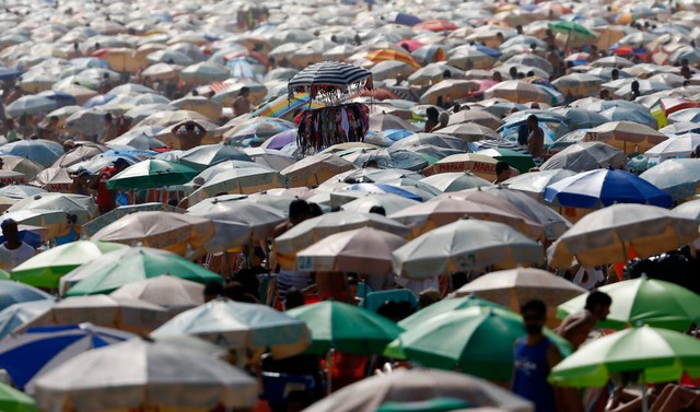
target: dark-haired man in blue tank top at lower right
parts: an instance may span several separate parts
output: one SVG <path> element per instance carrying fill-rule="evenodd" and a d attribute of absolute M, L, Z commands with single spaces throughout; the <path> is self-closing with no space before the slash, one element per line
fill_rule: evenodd
<path fill-rule="evenodd" d="M 547 381 L 549 372 L 561 361 L 555 343 L 545 337 L 542 328 L 547 305 L 533 299 L 521 307 L 527 334 L 515 341 L 513 393 L 535 404 L 535 412 L 556 412 L 555 388 Z"/>

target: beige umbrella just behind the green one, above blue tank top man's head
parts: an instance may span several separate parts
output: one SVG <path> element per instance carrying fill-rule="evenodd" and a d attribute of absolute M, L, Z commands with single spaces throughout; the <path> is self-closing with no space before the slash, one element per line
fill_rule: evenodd
<path fill-rule="evenodd" d="M 474 294 L 511 310 L 532 299 L 557 306 L 586 292 L 583 287 L 539 269 L 512 269 L 487 273 L 459 287 L 457 296 Z"/>

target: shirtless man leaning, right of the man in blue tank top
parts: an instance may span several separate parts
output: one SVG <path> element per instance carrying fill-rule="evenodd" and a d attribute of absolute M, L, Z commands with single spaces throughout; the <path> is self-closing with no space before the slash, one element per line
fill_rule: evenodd
<path fill-rule="evenodd" d="M 588 333 L 596 323 L 607 319 L 611 304 L 612 299 L 608 294 L 597 291 L 591 292 L 583 311 L 569 315 L 557 328 L 557 333 L 571 342 L 573 350 L 576 351 L 588 339 Z"/>

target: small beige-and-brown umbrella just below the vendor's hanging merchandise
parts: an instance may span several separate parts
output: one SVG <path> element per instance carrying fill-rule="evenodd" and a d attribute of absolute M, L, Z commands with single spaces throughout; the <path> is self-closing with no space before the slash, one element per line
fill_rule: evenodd
<path fill-rule="evenodd" d="M 280 174 L 289 179 L 291 187 L 318 186 L 332 176 L 352 168 L 352 163 L 327 153 L 305 157 L 282 169 Z"/>

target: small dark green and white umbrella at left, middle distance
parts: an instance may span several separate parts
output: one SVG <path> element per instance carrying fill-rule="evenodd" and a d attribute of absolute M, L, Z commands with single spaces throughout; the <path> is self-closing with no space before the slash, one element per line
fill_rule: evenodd
<path fill-rule="evenodd" d="M 107 189 L 149 189 L 182 185 L 199 173 L 175 162 L 151 158 L 131 165 L 107 180 Z"/>

